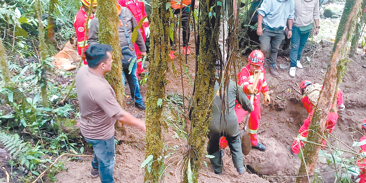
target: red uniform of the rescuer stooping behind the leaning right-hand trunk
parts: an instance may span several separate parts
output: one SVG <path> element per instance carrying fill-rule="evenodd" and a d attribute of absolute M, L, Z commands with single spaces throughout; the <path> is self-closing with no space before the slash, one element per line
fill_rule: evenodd
<path fill-rule="evenodd" d="M 305 94 L 302 96 L 302 104 L 304 105 L 306 111 L 309 112 L 309 115 L 307 116 L 307 118 L 304 120 L 304 123 L 300 127 L 299 137 L 303 140 L 306 140 L 307 135 L 309 134 L 308 130 L 309 130 L 309 126 L 311 123 L 311 118 L 313 117 L 315 106 L 311 103 L 311 101 Z M 342 105 L 342 104 L 343 104 L 343 93 L 342 93 L 341 89 L 338 89 L 337 106 Z M 338 117 L 339 117 L 338 112 L 329 112 L 328 116 L 326 117 L 325 130 L 329 134 L 333 132 L 335 125 L 337 123 Z M 305 143 L 303 141 L 300 141 L 301 148 L 304 146 L 304 144 Z M 325 139 L 323 139 L 323 145 L 326 145 Z M 300 147 L 296 140 L 294 142 L 292 142 L 291 150 L 293 153 L 299 154 Z"/>

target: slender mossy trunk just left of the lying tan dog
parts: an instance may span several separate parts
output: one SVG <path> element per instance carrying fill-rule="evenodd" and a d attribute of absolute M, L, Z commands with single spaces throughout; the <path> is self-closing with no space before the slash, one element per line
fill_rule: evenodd
<path fill-rule="evenodd" d="M 38 16 L 38 41 L 39 41 L 39 52 L 40 52 L 40 63 L 42 63 L 42 61 L 44 59 L 46 59 L 49 54 L 48 54 L 48 48 L 47 45 L 45 43 L 45 37 L 44 37 L 44 33 L 43 33 L 43 23 L 42 23 L 42 19 L 41 19 L 41 15 L 42 15 L 42 3 L 41 0 L 37 1 L 36 4 L 36 12 L 37 12 L 37 16 Z M 47 66 L 45 66 L 44 68 L 46 68 Z M 43 107 L 48 107 L 48 96 L 47 96 L 47 77 L 46 77 L 46 69 L 42 70 L 41 73 L 41 78 L 39 80 L 39 84 L 41 86 L 41 93 L 42 93 L 42 104 Z"/>

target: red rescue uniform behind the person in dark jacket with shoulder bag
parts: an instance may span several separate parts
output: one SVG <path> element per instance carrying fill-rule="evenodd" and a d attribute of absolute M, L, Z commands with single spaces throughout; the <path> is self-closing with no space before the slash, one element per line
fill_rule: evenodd
<path fill-rule="evenodd" d="M 127 7 L 128 10 L 132 12 L 132 15 L 134 15 L 136 22 L 138 24 L 140 24 L 140 20 L 143 20 L 145 17 L 147 17 L 145 11 L 145 4 L 143 2 L 140 2 L 138 0 L 118 0 L 118 3 L 123 7 Z M 142 26 L 140 27 L 140 32 L 142 34 L 143 41 L 146 41 L 146 34 L 145 34 L 146 27 L 149 27 L 149 20 L 147 20 L 147 18 L 143 20 Z M 135 51 L 137 56 L 137 76 L 138 76 L 145 70 L 142 66 L 141 51 L 136 43 L 135 43 Z"/>

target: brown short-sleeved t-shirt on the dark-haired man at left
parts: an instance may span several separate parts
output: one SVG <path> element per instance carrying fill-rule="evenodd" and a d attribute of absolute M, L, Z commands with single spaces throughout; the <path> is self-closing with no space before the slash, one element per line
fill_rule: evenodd
<path fill-rule="evenodd" d="M 80 104 L 80 129 L 84 137 L 107 140 L 114 135 L 114 115 L 124 110 L 107 80 L 82 66 L 76 74 L 76 90 Z"/>

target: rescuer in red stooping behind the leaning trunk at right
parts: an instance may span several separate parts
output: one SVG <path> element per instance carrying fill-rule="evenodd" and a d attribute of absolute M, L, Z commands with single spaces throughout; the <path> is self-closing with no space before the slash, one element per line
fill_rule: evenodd
<path fill-rule="evenodd" d="M 300 127 L 299 130 L 299 135 L 298 137 L 300 137 L 303 140 L 306 140 L 307 138 L 307 134 L 309 133 L 309 126 L 311 123 L 311 118 L 313 117 L 313 113 L 315 110 L 315 105 L 318 102 L 318 98 L 320 95 L 320 91 L 322 90 L 323 85 L 319 84 L 319 83 L 313 83 L 309 80 L 304 80 L 300 83 L 300 92 L 302 94 L 302 104 L 304 105 L 306 111 L 309 113 L 309 116 L 304 120 L 303 125 Z M 338 111 L 343 111 L 346 107 L 343 104 L 343 93 L 341 89 L 337 89 L 337 110 Z M 326 126 L 325 126 L 325 130 L 326 132 L 328 132 L 328 137 L 329 134 L 332 133 L 332 131 L 334 130 L 334 127 L 337 123 L 338 120 L 338 112 L 329 112 L 327 118 L 326 118 Z M 304 142 L 300 141 L 300 146 L 303 147 L 304 146 Z M 323 145 L 326 145 L 326 140 L 323 139 Z M 324 149 L 324 147 L 321 147 L 322 149 Z M 291 147 L 291 151 L 294 154 L 299 154 L 300 152 L 300 148 L 298 145 L 297 140 L 295 140 L 292 143 L 292 147 Z"/>

